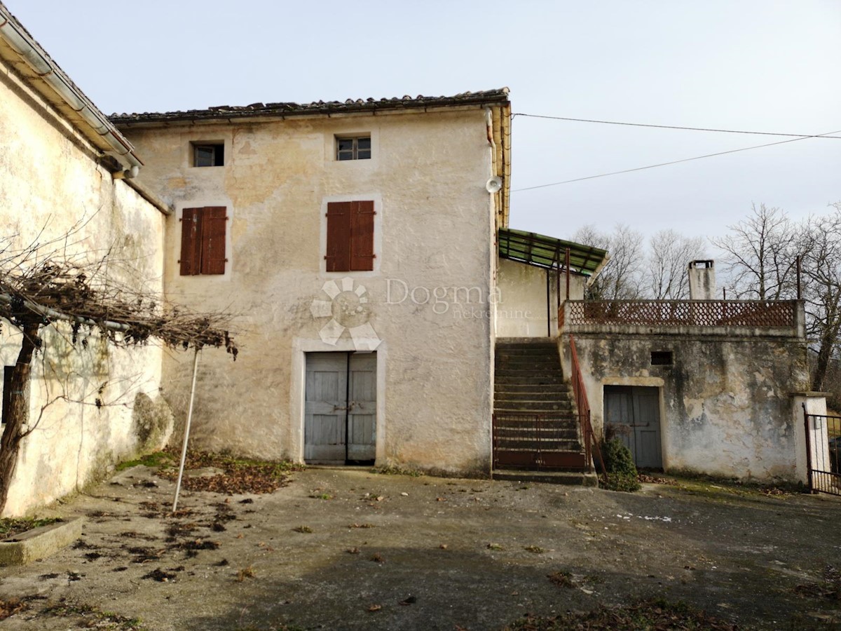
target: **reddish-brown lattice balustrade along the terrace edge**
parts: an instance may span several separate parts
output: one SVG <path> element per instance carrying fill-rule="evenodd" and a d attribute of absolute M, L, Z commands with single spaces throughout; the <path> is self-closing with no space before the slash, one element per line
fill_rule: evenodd
<path fill-rule="evenodd" d="M 563 310 L 563 307 L 562 307 Z M 569 300 L 567 325 L 796 326 L 796 300 Z"/>

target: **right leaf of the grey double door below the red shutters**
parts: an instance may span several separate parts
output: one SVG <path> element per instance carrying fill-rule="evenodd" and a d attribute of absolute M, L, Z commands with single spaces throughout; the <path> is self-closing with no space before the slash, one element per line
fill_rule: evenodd
<path fill-rule="evenodd" d="M 347 459 L 377 457 L 377 354 L 353 353 L 348 364 Z"/>

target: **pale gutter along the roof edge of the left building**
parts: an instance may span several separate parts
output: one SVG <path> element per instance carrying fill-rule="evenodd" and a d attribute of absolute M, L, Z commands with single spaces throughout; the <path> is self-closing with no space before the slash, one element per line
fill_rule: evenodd
<path fill-rule="evenodd" d="M 129 168 L 115 175 L 114 178 L 134 178 L 143 166 L 143 162 L 135 154 L 135 148 L 124 139 L 114 125 L 111 125 L 105 115 L 87 100 L 87 97 L 73 87 L 70 79 L 50 61 L 45 51 L 28 34 L 21 32 L 2 4 L 0 4 L 0 39 L 18 53 L 27 66 L 49 85 L 61 100 L 79 114 L 87 125 L 102 136 L 114 153 L 123 156 L 126 162 L 129 162 Z"/>

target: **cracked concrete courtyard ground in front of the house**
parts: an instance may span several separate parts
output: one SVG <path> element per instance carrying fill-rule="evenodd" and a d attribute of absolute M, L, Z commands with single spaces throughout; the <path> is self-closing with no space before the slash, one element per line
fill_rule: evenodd
<path fill-rule="evenodd" d="M 841 621 L 820 593 L 841 567 L 838 498 L 306 469 L 271 495 L 186 492 L 172 517 L 154 473 L 40 513 L 87 522 L 75 547 L 0 569 L 0 599 L 29 605 L 3 628 L 476 631 L 647 597 L 743 628 Z"/>

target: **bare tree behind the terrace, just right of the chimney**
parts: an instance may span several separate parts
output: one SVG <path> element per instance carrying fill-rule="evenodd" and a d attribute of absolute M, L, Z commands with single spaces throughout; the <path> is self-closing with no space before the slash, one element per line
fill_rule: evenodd
<path fill-rule="evenodd" d="M 801 254 L 799 226 L 785 211 L 765 204 L 729 226 L 731 234 L 713 239 L 725 253 L 728 289 L 736 298 L 781 300 L 796 294 L 796 260 Z"/>

